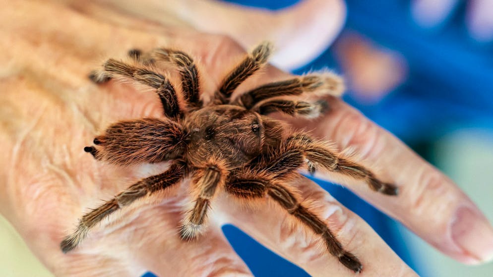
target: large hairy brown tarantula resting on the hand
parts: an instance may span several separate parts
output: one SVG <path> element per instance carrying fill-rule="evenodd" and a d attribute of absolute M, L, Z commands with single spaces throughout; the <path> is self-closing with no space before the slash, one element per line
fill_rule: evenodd
<path fill-rule="evenodd" d="M 339 76 L 313 73 L 232 97 L 243 81 L 265 66 L 271 52 L 269 43 L 255 47 L 226 75 L 208 103 L 201 100 L 199 74 L 193 59 L 179 50 L 131 50 L 128 54 L 133 62 L 109 59 L 101 69 L 93 71 L 90 78 L 96 83 L 123 78 L 154 88 L 165 118 L 115 123 L 94 139 L 95 146 L 85 147 L 84 151 L 96 160 L 116 165 L 171 161 L 171 166 L 163 173 L 141 179 L 85 214 L 75 231 L 61 242 L 62 251 L 74 249 L 91 228 L 115 211 L 190 177 L 194 204 L 181 223 L 183 239 L 195 238 L 204 230 L 211 201 L 221 188 L 246 202 L 272 199 L 321 238 L 340 263 L 359 273 L 362 264 L 358 258 L 344 250 L 326 223 L 300 201 L 289 183 L 300 177 L 298 169 L 306 166 L 310 173 L 322 169 L 365 180 L 372 190 L 386 195 L 397 195 L 397 187 L 380 181 L 369 169 L 331 150 L 326 142 L 314 140 L 308 133 L 291 131 L 268 116 L 272 112 L 319 116 L 326 111 L 326 102 L 296 98 L 309 94 L 319 99 L 340 95 L 344 86 Z M 181 94 L 166 77 L 147 69 L 147 65 L 157 62 L 176 67 L 182 79 Z"/>

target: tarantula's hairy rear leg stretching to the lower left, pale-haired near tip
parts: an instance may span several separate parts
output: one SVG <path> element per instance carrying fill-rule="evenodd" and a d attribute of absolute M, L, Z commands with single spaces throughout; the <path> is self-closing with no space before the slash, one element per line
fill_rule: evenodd
<path fill-rule="evenodd" d="M 62 251 L 66 253 L 74 249 L 86 237 L 91 228 L 114 212 L 130 205 L 137 199 L 177 184 L 184 177 L 184 173 L 183 165 L 173 164 L 167 171 L 138 181 L 112 200 L 85 214 L 79 220 L 75 231 L 66 236 L 60 243 Z"/>

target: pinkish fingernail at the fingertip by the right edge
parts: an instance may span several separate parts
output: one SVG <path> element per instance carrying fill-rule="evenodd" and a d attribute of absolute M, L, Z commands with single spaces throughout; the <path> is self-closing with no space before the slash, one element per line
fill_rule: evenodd
<path fill-rule="evenodd" d="M 452 239 L 477 263 L 493 260 L 493 228 L 479 212 L 459 208 L 452 223 Z"/>

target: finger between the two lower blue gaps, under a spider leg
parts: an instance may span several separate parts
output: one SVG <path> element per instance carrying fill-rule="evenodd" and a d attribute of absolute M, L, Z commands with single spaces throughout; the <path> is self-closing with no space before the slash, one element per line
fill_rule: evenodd
<path fill-rule="evenodd" d="M 361 261 L 363 271 L 360 276 L 416 276 L 366 222 L 318 185 L 300 178 L 294 181 L 293 186 L 301 191 L 302 199 L 306 200 L 304 203 L 312 203 L 311 210 L 317 211 L 327 223 L 344 250 Z M 226 221 L 297 264 L 311 276 L 354 276 L 354 272 L 328 253 L 319 237 L 301 223 L 295 223 L 294 218 L 279 209 L 271 199 L 258 200 L 255 205 L 239 205 L 234 200 L 225 198 L 220 202 L 221 209 L 218 210 L 227 211 Z"/>

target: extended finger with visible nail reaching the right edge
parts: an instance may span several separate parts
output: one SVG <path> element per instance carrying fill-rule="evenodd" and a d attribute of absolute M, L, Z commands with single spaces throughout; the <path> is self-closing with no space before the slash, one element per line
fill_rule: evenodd
<path fill-rule="evenodd" d="M 339 149 L 353 148 L 364 166 L 399 187 L 399 195 L 383 196 L 361 183 L 350 185 L 351 190 L 461 262 L 493 258 L 490 223 L 449 178 L 340 99 L 332 98 L 329 107 L 328 114 L 312 122 L 293 122 L 333 141 Z"/>

